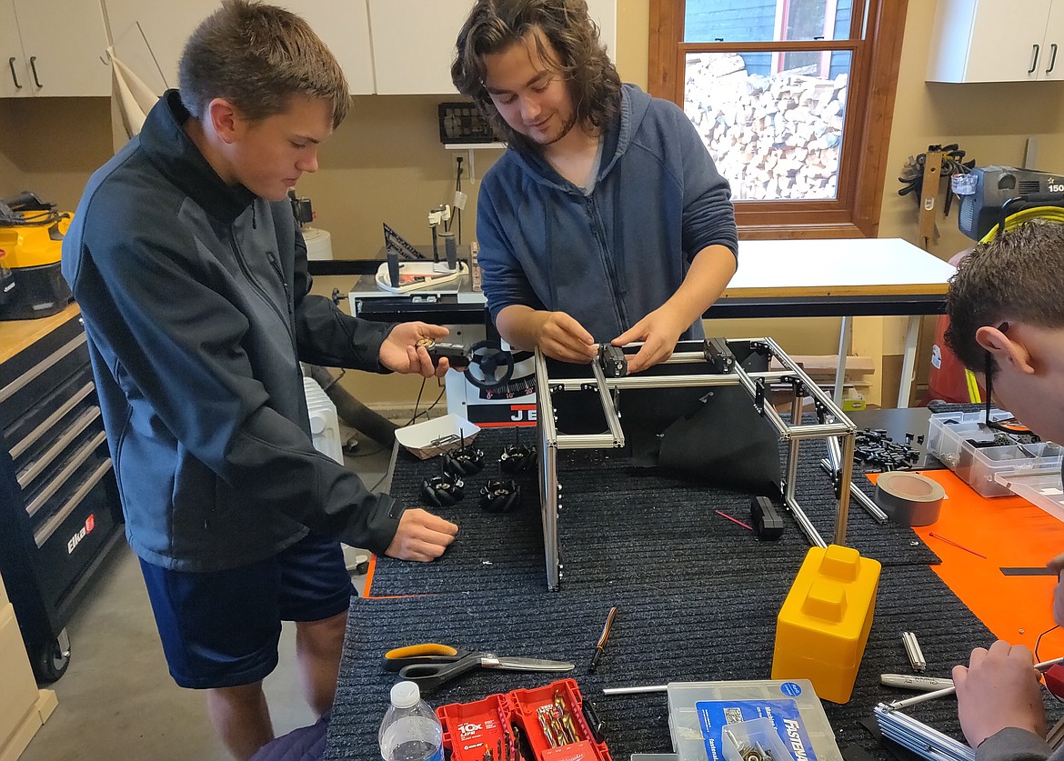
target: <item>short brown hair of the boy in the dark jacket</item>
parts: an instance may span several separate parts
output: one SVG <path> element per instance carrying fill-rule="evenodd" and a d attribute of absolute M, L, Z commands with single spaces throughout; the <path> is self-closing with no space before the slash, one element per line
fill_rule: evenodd
<path fill-rule="evenodd" d="M 303 95 L 332 105 L 335 129 L 351 103 L 344 71 L 310 24 L 251 0 L 225 0 L 196 28 L 181 54 L 178 82 L 181 102 L 200 119 L 215 98 L 260 121 Z"/>

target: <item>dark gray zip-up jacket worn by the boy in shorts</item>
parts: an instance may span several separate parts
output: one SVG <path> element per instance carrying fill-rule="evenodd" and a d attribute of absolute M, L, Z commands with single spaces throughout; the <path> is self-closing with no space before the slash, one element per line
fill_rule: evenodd
<path fill-rule="evenodd" d="M 299 360 L 380 371 L 382 326 L 311 295 L 286 201 L 229 187 L 166 93 L 88 182 L 63 244 L 130 545 L 247 565 L 307 528 L 383 552 L 402 508 L 311 441 Z"/>

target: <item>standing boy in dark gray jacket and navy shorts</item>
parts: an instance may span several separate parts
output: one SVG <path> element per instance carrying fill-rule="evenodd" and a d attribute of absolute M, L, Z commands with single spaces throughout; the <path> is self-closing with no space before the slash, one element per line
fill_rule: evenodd
<path fill-rule="evenodd" d="M 180 90 L 93 176 L 63 247 L 170 674 L 206 692 L 239 759 L 273 737 L 262 680 L 282 619 L 307 701 L 332 705 L 352 594 L 337 539 L 430 561 L 458 531 L 312 445 L 300 360 L 447 369 L 417 347 L 446 329 L 365 322 L 310 293 L 286 193 L 349 103 L 302 19 L 223 3 L 186 45 Z"/>

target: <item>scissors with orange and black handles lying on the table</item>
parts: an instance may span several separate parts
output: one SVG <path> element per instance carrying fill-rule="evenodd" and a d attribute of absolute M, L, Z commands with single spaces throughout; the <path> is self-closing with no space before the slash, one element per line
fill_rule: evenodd
<path fill-rule="evenodd" d="M 479 667 L 520 672 L 569 672 L 575 668 L 564 661 L 503 658 L 491 652 L 460 650 L 435 642 L 397 647 L 384 654 L 384 671 L 397 672 L 401 678 L 417 682 L 421 694 L 428 694 L 444 682 Z"/>

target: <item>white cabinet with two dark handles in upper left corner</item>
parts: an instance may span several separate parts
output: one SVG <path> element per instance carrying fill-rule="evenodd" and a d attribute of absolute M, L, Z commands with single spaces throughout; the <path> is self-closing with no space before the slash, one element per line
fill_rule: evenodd
<path fill-rule="evenodd" d="M 111 93 L 99 0 L 0 0 L 0 97 Z"/>

